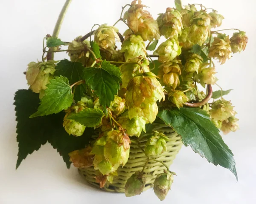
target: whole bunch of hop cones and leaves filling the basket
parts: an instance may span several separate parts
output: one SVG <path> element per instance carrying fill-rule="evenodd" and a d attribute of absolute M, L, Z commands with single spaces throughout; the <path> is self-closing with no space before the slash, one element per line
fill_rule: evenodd
<path fill-rule="evenodd" d="M 95 181 L 105 187 L 137 145 L 146 160 L 125 181 L 125 195 L 143 192 L 150 176 L 145 169 L 154 161 L 164 169 L 151 186 L 163 200 L 176 175 L 158 159 L 168 152 L 166 129 L 171 129 L 185 146 L 237 178 L 233 153 L 219 129 L 236 131 L 238 119 L 224 99 L 230 90 L 216 84 L 215 60 L 224 64 L 242 52 L 248 37 L 239 29 L 233 36 L 215 30 L 224 17 L 213 9 L 182 6 L 179 0 L 175 5 L 155 20 L 141 0 L 134 0 L 122 7 L 113 26 L 95 25 L 71 42 L 58 38 L 56 24 L 54 34 L 44 37 L 41 61 L 30 62 L 24 72 L 29 89 L 15 94 L 17 167 L 48 141 L 68 168 L 73 163 L 93 169 Z M 127 25 L 123 35 L 119 22 Z M 160 37 L 164 41 L 158 45 Z M 56 61 L 55 52 L 67 52 L 70 59 Z M 212 86 L 220 90 L 212 92 Z"/>

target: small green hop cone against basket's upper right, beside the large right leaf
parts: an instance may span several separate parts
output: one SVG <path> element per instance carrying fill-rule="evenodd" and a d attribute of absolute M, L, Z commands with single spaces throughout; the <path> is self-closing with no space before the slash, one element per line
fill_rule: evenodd
<path fill-rule="evenodd" d="M 169 141 L 169 139 L 163 133 L 155 131 L 154 135 L 151 135 L 150 138 L 148 138 L 145 147 L 145 155 L 156 156 L 166 152 L 166 141 Z"/>

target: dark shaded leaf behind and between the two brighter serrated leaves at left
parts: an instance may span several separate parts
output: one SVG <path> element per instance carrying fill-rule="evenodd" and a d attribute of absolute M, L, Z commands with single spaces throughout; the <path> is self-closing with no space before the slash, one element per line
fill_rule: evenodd
<path fill-rule="evenodd" d="M 82 80 L 83 70 L 86 69 L 82 63 L 71 62 L 70 60 L 61 60 L 55 67 L 55 76 L 67 77 L 70 84 L 76 83 Z M 76 91 L 74 94 L 74 100 L 80 101 L 86 91 L 84 84 L 76 86 Z"/>

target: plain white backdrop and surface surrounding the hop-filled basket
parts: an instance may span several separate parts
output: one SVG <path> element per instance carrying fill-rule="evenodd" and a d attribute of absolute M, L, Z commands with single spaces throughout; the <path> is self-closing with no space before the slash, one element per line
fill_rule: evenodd
<path fill-rule="evenodd" d="M 144 0 L 153 17 L 173 7 L 174 0 Z M 73 0 L 59 37 L 71 41 L 90 31 L 94 23 L 112 25 L 121 6 L 128 0 Z M 222 28 L 239 28 L 247 32 L 249 43 L 241 54 L 235 54 L 217 66 L 218 84 L 234 89 L 227 99 L 236 106 L 240 130 L 224 136 L 236 158 L 239 181 L 229 170 L 215 167 L 183 147 L 172 171 L 177 177 L 172 191 L 162 203 L 175 204 L 255 204 L 256 203 L 256 18 L 254 0 L 183 0 L 183 4 L 203 3 L 226 18 Z M 89 187 L 71 167 L 47 144 L 29 155 L 15 171 L 17 143 L 15 112 L 12 105 L 17 89 L 26 89 L 23 71 L 30 61 L 41 59 L 42 39 L 52 34 L 64 0 L 0 0 L 0 204 L 128 204 L 160 203 L 153 190 L 140 196 L 106 193 Z M 117 24 L 120 32 L 125 25 Z M 230 32 L 231 34 L 231 32 Z M 56 59 L 64 53 L 55 54 Z"/>

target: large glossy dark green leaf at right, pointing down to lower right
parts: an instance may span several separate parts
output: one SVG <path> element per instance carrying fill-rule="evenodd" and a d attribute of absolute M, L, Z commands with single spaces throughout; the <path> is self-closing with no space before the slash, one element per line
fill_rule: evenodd
<path fill-rule="evenodd" d="M 190 146 L 201 157 L 215 166 L 229 169 L 237 178 L 233 153 L 224 143 L 206 111 L 197 108 L 162 110 L 157 115 L 181 136 L 183 144 Z"/>

